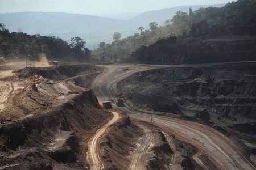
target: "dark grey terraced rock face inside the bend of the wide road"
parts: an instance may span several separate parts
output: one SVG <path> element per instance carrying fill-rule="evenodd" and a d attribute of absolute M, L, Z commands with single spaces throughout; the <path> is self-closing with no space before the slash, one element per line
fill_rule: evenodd
<path fill-rule="evenodd" d="M 142 75 L 117 85 L 134 104 L 255 135 L 255 63 L 156 69 Z"/>

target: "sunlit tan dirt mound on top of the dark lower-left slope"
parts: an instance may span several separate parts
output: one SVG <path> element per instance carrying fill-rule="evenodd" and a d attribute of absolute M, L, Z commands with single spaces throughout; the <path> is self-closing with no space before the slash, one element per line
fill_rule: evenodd
<path fill-rule="evenodd" d="M 5 122 L 6 118 L 16 120 L 47 111 L 82 91 L 83 88 L 72 82 L 51 82 L 40 79 L 10 95 L 5 109 L 0 113 L 0 120 L 2 122 Z"/>

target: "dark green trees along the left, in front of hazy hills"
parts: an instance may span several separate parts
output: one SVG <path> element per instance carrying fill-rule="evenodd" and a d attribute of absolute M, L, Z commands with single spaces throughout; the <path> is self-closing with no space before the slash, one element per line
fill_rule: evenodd
<path fill-rule="evenodd" d="M 80 37 L 73 37 L 71 44 L 59 37 L 27 35 L 23 32 L 9 32 L 0 23 L 0 56 L 7 59 L 39 59 L 44 53 L 48 59 L 58 61 L 83 61 L 90 56 L 90 50 L 84 48 L 85 41 Z"/>

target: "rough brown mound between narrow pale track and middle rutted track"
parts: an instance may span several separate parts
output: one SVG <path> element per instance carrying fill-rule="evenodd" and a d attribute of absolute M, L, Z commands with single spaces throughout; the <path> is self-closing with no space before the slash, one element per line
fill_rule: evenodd
<path fill-rule="evenodd" d="M 99 152 L 105 169 L 127 169 L 130 165 L 130 152 L 141 137 L 142 129 L 135 126 L 129 117 L 119 114 L 121 118 L 110 126 L 101 138 Z"/>

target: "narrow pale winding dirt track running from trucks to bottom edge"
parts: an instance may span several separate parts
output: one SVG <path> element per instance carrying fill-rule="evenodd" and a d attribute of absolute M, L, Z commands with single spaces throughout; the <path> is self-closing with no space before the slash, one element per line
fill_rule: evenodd
<path fill-rule="evenodd" d="M 90 139 L 88 143 L 87 161 L 90 164 L 90 169 L 98 170 L 103 169 L 104 164 L 101 161 L 100 154 L 98 153 L 98 146 L 100 144 L 100 138 L 109 129 L 109 126 L 114 124 L 120 117 L 117 112 L 112 112 L 113 118 L 100 129 L 97 130 L 96 134 Z"/>

